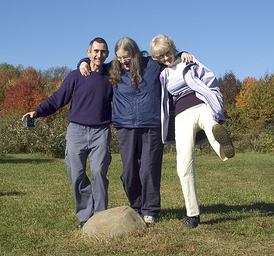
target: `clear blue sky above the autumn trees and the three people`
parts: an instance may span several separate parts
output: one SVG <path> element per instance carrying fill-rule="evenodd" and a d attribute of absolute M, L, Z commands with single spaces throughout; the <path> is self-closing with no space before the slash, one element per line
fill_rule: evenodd
<path fill-rule="evenodd" d="M 0 62 L 24 68 L 75 69 L 94 37 L 127 36 L 141 50 L 157 34 L 170 36 L 214 74 L 232 70 L 239 79 L 274 72 L 274 1 L 2 0 Z"/>

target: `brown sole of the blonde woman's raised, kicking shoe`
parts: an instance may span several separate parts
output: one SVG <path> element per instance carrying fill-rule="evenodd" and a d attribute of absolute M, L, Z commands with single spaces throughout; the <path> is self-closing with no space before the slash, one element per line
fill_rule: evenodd
<path fill-rule="evenodd" d="M 223 125 L 215 124 L 212 127 L 214 138 L 220 143 L 220 146 L 227 158 L 235 155 L 234 146 L 228 132 L 224 129 Z"/>

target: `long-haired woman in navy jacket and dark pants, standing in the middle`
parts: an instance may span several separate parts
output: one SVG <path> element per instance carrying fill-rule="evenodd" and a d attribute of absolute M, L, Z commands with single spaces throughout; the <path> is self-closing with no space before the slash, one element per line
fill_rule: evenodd
<path fill-rule="evenodd" d="M 128 37 L 116 43 L 115 55 L 109 80 L 114 87 L 112 123 L 123 162 L 121 179 L 130 207 L 153 224 L 161 206 L 161 66 Z"/>

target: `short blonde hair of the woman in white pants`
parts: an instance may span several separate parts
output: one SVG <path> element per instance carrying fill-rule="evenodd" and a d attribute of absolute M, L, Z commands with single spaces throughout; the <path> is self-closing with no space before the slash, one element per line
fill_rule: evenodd
<path fill-rule="evenodd" d="M 178 54 L 173 40 L 164 34 L 156 35 L 154 38 L 152 38 L 149 47 L 151 57 L 155 60 L 159 60 L 158 57 L 169 49 L 174 51 L 174 55 Z"/>

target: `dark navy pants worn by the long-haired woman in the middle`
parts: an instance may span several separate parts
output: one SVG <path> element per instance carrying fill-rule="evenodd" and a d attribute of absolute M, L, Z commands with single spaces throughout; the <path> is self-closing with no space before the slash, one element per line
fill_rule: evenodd
<path fill-rule="evenodd" d="M 161 208 L 161 129 L 121 128 L 117 139 L 123 162 L 121 180 L 130 207 L 143 216 L 156 217 Z"/>

